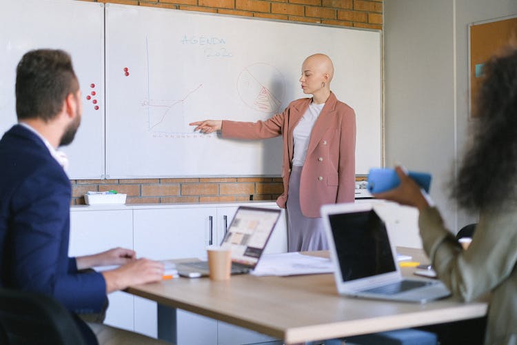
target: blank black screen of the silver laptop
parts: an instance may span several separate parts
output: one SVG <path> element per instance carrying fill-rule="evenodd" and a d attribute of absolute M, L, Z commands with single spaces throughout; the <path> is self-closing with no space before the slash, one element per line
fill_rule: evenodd
<path fill-rule="evenodd" d="M 374 210 L 329 215 L 343 282 L 396 271 L 386 227 Z"/>

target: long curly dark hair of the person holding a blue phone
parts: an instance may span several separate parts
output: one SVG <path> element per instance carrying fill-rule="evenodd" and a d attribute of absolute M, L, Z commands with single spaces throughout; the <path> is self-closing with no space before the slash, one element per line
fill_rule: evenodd
<path fill-rule="evenodd" d="M 472 143 L 452 183 L 452 197 L 472 211 L 517 197 L 517 48 L 492 58 L 483 72 Z"/>

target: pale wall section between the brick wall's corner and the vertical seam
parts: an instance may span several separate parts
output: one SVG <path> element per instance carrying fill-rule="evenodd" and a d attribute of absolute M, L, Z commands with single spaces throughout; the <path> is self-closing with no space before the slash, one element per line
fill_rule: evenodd
<path fill-rule="evenodd" d="M 452 2 L 385 0 L 386 166 L 432 173 L 431 195 L 447 220 L 454 158 Z"/>

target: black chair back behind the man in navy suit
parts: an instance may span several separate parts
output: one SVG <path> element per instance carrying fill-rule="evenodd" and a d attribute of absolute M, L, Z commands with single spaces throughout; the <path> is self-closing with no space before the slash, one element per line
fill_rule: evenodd
<path fill-rule="evenodd" d="M 86 342 L 70 312 L 52 297 L 0 288 L 0 344 Z"/>

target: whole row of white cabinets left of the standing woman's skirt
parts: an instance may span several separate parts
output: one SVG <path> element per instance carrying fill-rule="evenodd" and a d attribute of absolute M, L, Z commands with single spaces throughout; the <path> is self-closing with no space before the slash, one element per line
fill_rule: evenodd
<path fill-rule="evenodd" d="M 245 205 L 278 208 L 272 202 Z M 138 257 L 156 260 L 205 257 L 206 246 L 221 243 L 238 207 L 239 204 L 72 207 L 70 255 L 123 246 L 134 248 Z M 287 251 L 285 210 L 271 236 L 265 253 Z M 178 345 L 237 345 L 274 340 L 181 310 L 176 311 L 175 321 Z M 125 293 L 112 293 L 106 323 L 156 337 L 156 303 Z"/>

